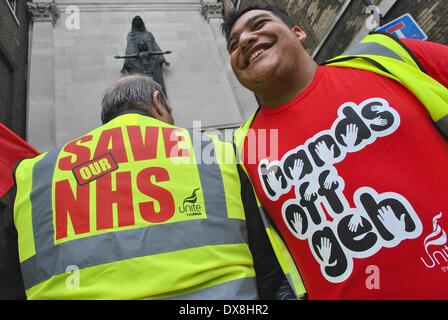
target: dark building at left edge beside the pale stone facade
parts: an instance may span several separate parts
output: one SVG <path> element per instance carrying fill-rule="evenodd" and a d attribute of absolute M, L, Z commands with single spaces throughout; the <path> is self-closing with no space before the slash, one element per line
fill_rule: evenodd
<path fill-rule="evenodd" d="M 0 0 L 0 122 L 26 138 L 29 17 L 26 1 Z"/>

